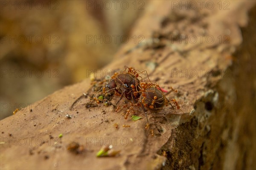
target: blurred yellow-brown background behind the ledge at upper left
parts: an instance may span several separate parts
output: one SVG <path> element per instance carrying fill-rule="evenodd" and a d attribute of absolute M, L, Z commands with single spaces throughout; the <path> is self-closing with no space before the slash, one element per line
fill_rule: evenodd
<path fill-rule="evenodd" d="M 147 1 L 0 1 L 0 119 L 113 60 Z M 115 38 L 116 37 L 116 38 Z"/>

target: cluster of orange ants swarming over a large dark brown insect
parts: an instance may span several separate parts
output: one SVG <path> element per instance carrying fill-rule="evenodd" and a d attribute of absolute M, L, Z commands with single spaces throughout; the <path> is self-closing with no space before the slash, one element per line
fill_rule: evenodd
<path fill-rule="evenodd" d="M 136 114 L 134 107 L 142 108 L 147 119 L 147 125 L 145 127 L 145 129 L 147 129 L 149 124 L 145 108 L 157 110 L 167 106 L 168 104 L 172 106 L 172 104 L 166 98 L 163 93 L 163 89 L 161 89 L 158 84 L 151 82 L 149 78 L 147 82 L 143 81 L 142 75 L 144 72 L 148 77 L 148 73 L 145 70 L 140 72 L 133 67 L 125 66 L 124 71 L 120 73 L 115 72 L 108 81 L 108 84 L 102 86 L 101 89 L 93 95 L 93 100 L 100 103 L 103 101 L 103 96 L 113 95 L 114 93 L 116 93 L 116 95 L 120 95 L 116 104 L 112 104 L 116 107 L 116 112 L 119 109 L 125 108 L 125 119 L 127 119 L 128 115 Z M 108 89 L 107 91 L 106 88 Z M 101 94 L 96 98 L 95 96 L 99 92 L 101 92 Z M 128 101 L 131 101 L 130 104 L 125 104 L 122 107 L 117 106 L 123 97 Z M 101 98 L 101 100 L 99 100 L 99 98 Z M 176 109 L 180 109 L 180 106 L 175 99 L 171 99 L 171 101 L 175 104 Z M 107 101 L 105 102 L 107 103 Z M 175 109 L 173 106 L 172 108 Z"/>

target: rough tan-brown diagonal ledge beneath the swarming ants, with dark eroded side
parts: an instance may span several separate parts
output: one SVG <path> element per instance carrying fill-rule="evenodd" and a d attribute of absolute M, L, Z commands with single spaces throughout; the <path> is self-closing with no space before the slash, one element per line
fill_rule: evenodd
<path fill-rule="evenodd" d="M 229 2 L 229 10 L 180 10 L 170 1 L 152 1 L 131 33 L 143 35 L 145 43 L 129 41 L 102 69 L 133 66 L 147 70 L 163 89 L 178 89 L 166 97 L 178 100 L 183 112 L 148 111 L 154 136 L 144 128 L 142 111 L 142 120 L 125 120 L 123 110 L 85 108 L 88 98 L 70 110 L 90 88 L 86 79 L 38 101 L 32 112 L 26 108 L 0 121 L 1 169 L 256 168 L 256 7 L 253 1 Z M 198 40 L 186 43 L 180 39 L 185 35 Z M 84 153 L 70 153 L 66 146 L 72 141 L 84 145 Z M 120 155 L 97 158 L 109 141 Z"/>

